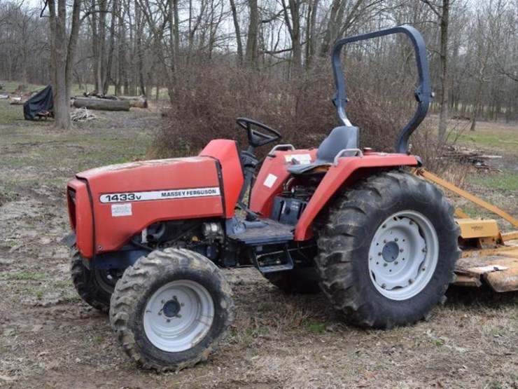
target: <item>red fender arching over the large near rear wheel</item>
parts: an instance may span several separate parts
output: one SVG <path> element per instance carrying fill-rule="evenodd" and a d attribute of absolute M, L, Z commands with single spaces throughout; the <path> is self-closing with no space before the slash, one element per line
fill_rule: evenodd
<path fill-rule="evenodd" d="M 343 157 L 337 165 L 330 166 L 295 227 L 295 240 L 308 240 L 313 236 L 313 222 L 330 200 L 346 186 L 363 177 L 374 175 L 380 170 L 396 166 L 416 166 L 416 156 L 399 153 L 369 153 L 361 157 Z"/>

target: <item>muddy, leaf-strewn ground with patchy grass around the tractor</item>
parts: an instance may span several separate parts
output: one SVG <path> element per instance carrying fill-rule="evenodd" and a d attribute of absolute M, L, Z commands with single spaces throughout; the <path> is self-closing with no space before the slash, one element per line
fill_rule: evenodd
<path fill-rule="evenodd" d="M 71 284 L 64 185 L 144 158 L 158 114 L 99 116 L 71 132 L 0 118 L 0 388 L 518 388 L 517 293 L 453 289 L 427 322 L 366 331 L 253 269 L 225 271 L 237 315 L 207 362 L 137 369 Z"/>

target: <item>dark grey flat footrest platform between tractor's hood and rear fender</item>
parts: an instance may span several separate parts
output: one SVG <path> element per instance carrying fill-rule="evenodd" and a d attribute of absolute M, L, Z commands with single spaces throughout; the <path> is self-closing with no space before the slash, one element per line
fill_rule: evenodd
<path fill-rule="evenodd" d="M 237 240 L 245 245 L 267 245 L 269 243 L 283 243 L 293 240 L 293 226 L 281 224 L 272 219 L 260 219 L 258 221 L 241 221 L 244 223 L 243 231 L 231 233 L 229 239 Z"/>

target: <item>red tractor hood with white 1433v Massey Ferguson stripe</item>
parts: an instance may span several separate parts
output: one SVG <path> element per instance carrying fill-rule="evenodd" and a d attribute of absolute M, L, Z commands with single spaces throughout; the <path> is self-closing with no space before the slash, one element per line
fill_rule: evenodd
<path fill-rule="evenodd" d="M 109 165 L 69 182 L 69 214 L 87 258 L 118 250 L 157 221 L 225 214 L 221 166 L 191 157 Z"/>

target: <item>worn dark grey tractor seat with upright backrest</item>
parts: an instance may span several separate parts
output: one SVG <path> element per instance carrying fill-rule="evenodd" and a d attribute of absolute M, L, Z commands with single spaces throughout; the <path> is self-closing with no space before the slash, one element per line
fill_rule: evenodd
<path fill-rule="evenodd" d="M 291 165 L 288 172 L 294 175 L 302 175 L 315 168 L 330 166 L 337 154 L 344 149 L 358 149 L 360 131 L 352 125 L 341 125 L 334 128 L 331 133 L 323 139 L 316 151 L 316 160 L 311 163 Z M 358 151 L 346 151 L 342 156 L 355 156 Z"/>

